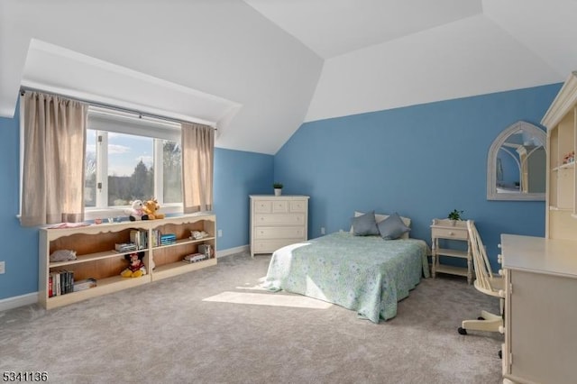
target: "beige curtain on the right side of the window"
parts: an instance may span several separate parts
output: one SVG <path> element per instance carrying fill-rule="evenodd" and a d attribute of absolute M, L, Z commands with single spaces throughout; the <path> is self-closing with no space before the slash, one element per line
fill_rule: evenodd
<path fill-rule="evenodd" d="M 215 129 L 182 123 L 182 203 L 184 213 L 212 211 Z"/>

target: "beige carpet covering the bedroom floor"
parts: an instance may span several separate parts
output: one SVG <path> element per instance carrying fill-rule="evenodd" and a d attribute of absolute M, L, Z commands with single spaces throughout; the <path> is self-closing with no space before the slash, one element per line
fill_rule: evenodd
<path fill-rule="evenodd" d="M 499 383 L 499 334 L 457 334 L 498 302 L 464 279 L 425 279 L 394 319 L 259 288 L 269 256 L 45 311 L 0 312 L 0 370 L 49 382 Z"/>

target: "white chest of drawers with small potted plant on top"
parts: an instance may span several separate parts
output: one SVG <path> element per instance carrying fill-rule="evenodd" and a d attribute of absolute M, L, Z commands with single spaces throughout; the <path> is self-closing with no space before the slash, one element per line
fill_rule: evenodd
<path fill-rule="evenodd" d="M 307 196 L 251 195 L 251 256 L 307 240 Z"/>

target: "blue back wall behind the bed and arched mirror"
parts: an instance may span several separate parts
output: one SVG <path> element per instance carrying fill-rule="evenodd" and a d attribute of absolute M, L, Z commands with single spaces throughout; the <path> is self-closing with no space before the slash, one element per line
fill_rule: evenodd
<path fill-rule="evenodd" d="M 561 84 L 304 123 L 275 156 L 287 193 L 309 195 L 309 237 L 353 211 L 398 212 L 430 244 L 433 218 L 475 220 L 497 268 L 500 233 L 545 235 L 545 202 L 486 199 L 487 154 L 518 120 L 540 126 Z"/>

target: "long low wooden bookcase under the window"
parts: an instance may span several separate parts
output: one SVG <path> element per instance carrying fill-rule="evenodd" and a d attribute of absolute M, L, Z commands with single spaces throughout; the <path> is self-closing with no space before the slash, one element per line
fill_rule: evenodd
<path fill-rule="evenodd" d="M 215 228 L 216 219 L 213 214 L 182 215 L 161 220 L 95 224 L 77 228 L 43 228 L 40 230 L 39 240 L 39 302 L 47 309 L 66 306 L 87 298 L 216 265 Z M 136 251 L 114 251 L 116 243 L 130 242 L 133 231 L 146 233 L 149 241 L 144 247 Z M 204 231 L 207 236 L 190 239 L 193 231 Z M 176 242 L 153 247 L 152 235 L 158 232 L 174 234 Z M 211 251 L 210 259 L 196 263 L 182 261 L 188 254 L 199 252 L 201 245 Z M 50 262 L 50 254 L 59 250 L 76 251 L 77 259 Z M 120 273 L 128 266 L 124 256 L 133 252 L 143 252 L 142 261 L 147 274 L 140 278 L 123 278 Z M 152 270 L 151 265 L 155 266 Z M 55 295 L 52 284 L 50 296 L 51 279 L 57 279 L 54 274 L 62 271 L 72 272 L 77 281 L 96 279 L 96 287 Z"/>

